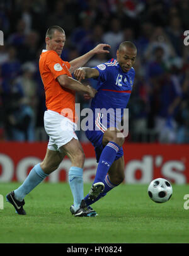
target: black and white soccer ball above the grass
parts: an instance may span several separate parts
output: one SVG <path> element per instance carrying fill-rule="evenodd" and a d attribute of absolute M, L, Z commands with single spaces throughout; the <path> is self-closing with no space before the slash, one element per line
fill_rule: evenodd
<path fill-rule="evenodd" d="M 173 194 L 171 183 L 164 178 L 152 180 L 147 189 L 149 197 L 154 202 L 167 202 Z"/>

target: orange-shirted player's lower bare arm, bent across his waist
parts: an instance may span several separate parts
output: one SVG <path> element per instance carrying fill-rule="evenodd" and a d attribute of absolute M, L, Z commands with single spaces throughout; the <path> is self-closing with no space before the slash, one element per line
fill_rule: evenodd
<path fill-rule="evenodd" d="M 84 84 L 80 83 L 76 79 L 71 78 L 70 76 L 67 76 L 66 74 L 62 74 L 57 77 L 57 80 L 59 81 L 59 84 L 66 89 L 78 91 L 80 93 L 86 93 L 91 98 L 95 97 L 96 90 L 91 86 L 85 86 Z"/>

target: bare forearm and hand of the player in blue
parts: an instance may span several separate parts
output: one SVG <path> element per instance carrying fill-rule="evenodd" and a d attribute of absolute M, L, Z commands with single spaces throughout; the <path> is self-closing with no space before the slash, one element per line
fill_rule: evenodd
<path fill-rule="evenodd" d="M 74 71 L 74 76 L 78 81 L 85 78 L 98 78 L 99 71 L 91 67 L 79 67 Z"/>

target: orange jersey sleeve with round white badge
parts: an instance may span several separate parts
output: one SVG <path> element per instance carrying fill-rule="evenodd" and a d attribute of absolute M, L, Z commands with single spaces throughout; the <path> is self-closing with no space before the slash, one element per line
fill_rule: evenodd
<path fill-rule="evenodd" d="M 69 69 L 71 66 L 69 62 L 64 62 L 64 66 L 62 66 L 62 60 L 54 52 L 50 52 L 48 54 L 46 63 L 51 73 L 53 74 L 54 79 L 56 79 L 61 74 L 67 74 L 65 64 L 67 65 L 67 69 Z"/>

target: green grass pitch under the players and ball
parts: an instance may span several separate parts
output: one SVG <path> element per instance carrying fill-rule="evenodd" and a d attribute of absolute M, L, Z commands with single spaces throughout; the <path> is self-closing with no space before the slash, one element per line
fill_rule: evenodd
<path fill-rule="evenodd" d="M 173 196 L 152 202 L 147 185 L 121 184 L 93 204 L 99 216 L 75 218 L 67 183 L 38 185 L 25 197 L 27 215 L 15 213 L 5 196 L 20 183 L 0 183 L 0 243 L 188 243 L 189 185 L 173 185 Z M 84 184 L 84 194 L 91 184 Z M 188 203 L 189 205 L 189 203 Z"/>

